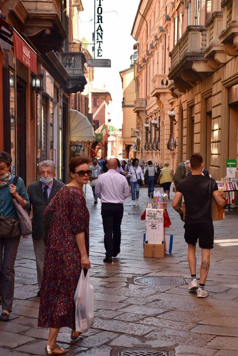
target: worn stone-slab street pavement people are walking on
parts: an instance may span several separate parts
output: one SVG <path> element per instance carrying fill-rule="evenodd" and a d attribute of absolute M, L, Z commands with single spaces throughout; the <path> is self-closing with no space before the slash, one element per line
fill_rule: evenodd
<path fill-rule="evenodd" d="M 70 340 L 69 329 L 61 329 L 59 344 L 68 349 L 68 355 L 116 356 L 126 350 L 163 350 L 171 356 L 237 355 L 237 213 L 226 212 L 225 221 L 214 223 L 215 244 L 206 283 L 209 297 L 198 299 L 196 294 L 188 293 L 187 284 L 175 287 L 134 283 L 136 276 L 179 277 L 189 282 L 183 223 L 171 201 L 168 212 L 172 226 L 167 231 L 174 234 L 173 254 L 164 259 L 143 257 L 145 222 L 140 216 L 150 199 L 147 189 L 142 188 L 139 206 L 132 207 L 131 197 L 125 204 L 121 254 L 108 265 L 102 262 L 100 203 L 93 205 L 89 186 L 86 196 L 95 321 L 89 332 L 76 341 Z M 200 263 L 199 249 L 197 262 Z M 32 239 L 22 239 L 16 261 L 13 313 L 9 322 L 0 322 L 0 355 L 44 354 L 48 330 L 37 327 L 37 291 Z"/>

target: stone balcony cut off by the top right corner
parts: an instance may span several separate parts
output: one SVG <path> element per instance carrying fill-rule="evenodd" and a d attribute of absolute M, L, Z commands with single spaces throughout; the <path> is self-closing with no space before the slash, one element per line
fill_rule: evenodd
<path fill-rule="evenodd" d="M 223 0 L 221 2 L 223 9 L 223 31 L 219 39 L 225 46 L 225 53 L 229 56 L 238 56 L 238 7 L 237 2 L 232 0 Z"/>

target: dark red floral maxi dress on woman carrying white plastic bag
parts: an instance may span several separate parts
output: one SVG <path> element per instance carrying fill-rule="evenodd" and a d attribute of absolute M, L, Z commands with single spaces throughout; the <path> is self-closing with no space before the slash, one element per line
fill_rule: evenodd
<path fill-rule="evenodd" d="M 38 326 L 75 329 L 73 296 L 81 271 L 75 235 L 85 233 L 89 254 L 89 213 L 83 193 L 62 187 L 46 207 L 53 214 L 46 245 Z"/>

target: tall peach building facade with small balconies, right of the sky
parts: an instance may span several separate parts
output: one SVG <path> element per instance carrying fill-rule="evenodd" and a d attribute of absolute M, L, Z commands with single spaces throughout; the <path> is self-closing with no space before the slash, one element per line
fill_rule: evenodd
<path fill-rule="evenodd" d="M 169 51 L 172 50 L 172 2 L 141 0 L 132 36 L 137 41 L 137 156 L 153 163 L 169 161 L 174 168 L 174 150 L 170 149 L 173 122 L 168 115 L 172 105 L 168 89 Z"/>

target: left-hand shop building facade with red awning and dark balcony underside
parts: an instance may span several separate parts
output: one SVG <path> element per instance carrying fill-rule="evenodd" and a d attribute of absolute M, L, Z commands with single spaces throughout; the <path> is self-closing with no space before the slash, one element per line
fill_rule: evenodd
<path fill-rule="evenodd" d="M 81 1 L 2 1 L 0 64 L 1 149 L 12 171 L 28 185 L 37 163 L 53 159 L 57 178 L 68 181 L 72 93 L 87 83 L 85 56 L 72 47 L 72 11 Z"/>

